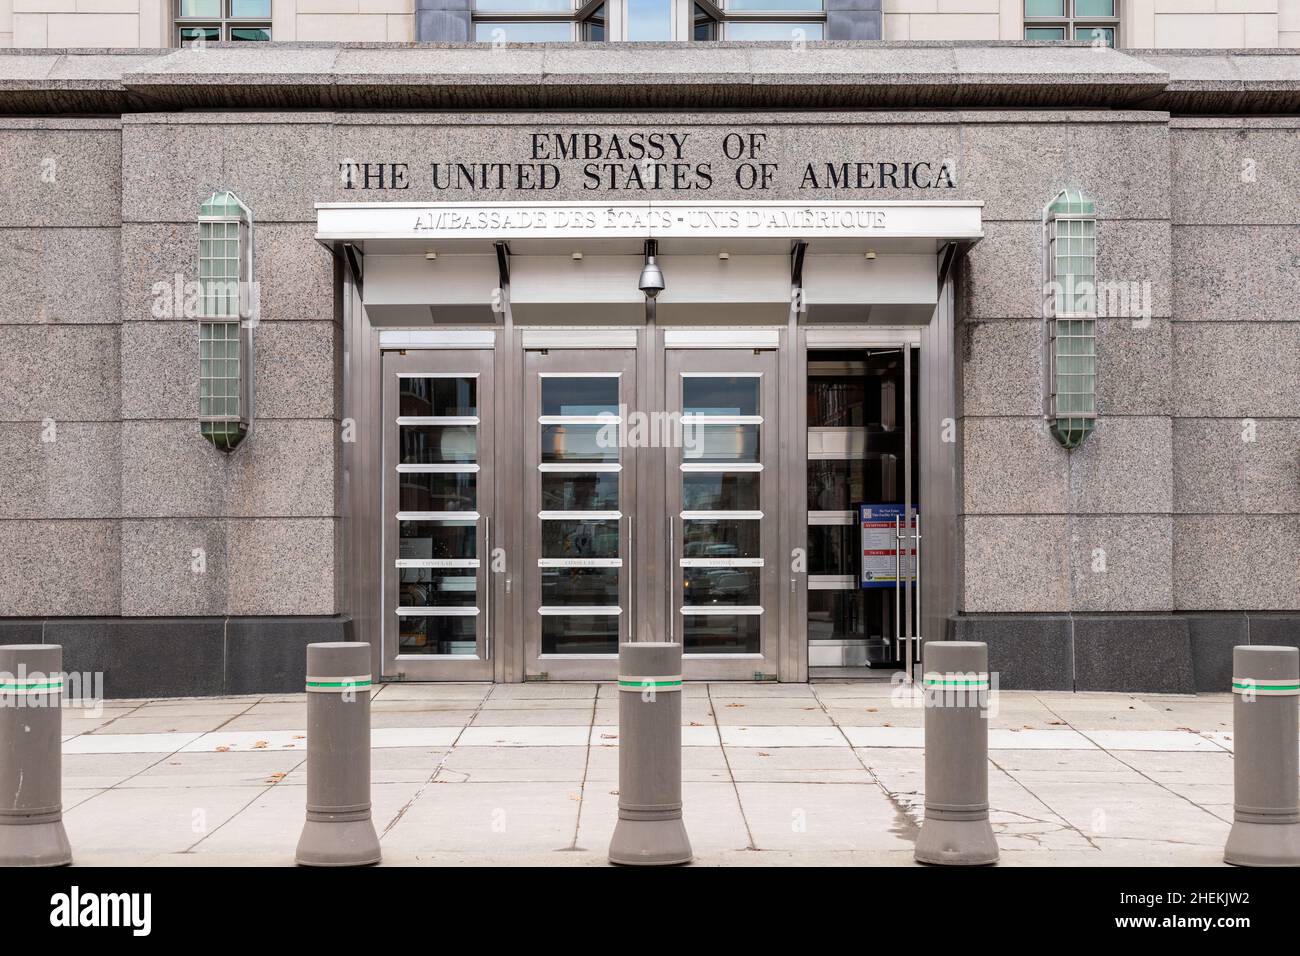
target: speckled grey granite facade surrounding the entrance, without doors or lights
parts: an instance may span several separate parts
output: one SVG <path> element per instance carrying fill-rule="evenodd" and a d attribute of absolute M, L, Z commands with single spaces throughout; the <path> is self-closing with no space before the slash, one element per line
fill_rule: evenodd
<path fill-rule="evenodd" d="M 421 3 L 417 29 L 460 12 Z M 294 622 L 344 615 L 351 574 L 339 545 L 339 265 L 315 239 L 316 204 L 430 199 L 429 163 L 517 159 L 537 131 L 649 125 L 690 134 L 692 161 L 720 170 L 731 168 L 724 134 L 762 133 L 764 157 L 780 164 L 768 199 L 810 195 L 809 156 L 871 156 L 950 161 L 957 187 L 815 198 L 984 203 L 984 238 L 958 269 L 956 633 L 989 640 L 1013 684 L 1209 689 L 1243 620 L 1300 609 L 1300 200 L 1287 187 L 1300 124 L 1130 108 L 744 122 L 705 108 L 265 108 L 0 120 L 0 155 L 14 159 L 0 163 L 0 233 L 14 250 L 0 263 L 10 290 L 0 303 L 0 619 L 101 619 L 98 631 L 68 626 L 92 662 L 107 659 L 95 633 L 124 653 L 192 640 L 196 661 L 226 670 L 178 678 L 186 691 L 298 680 L 295 656 L 317 631 Z M 346 187 L 341 164 L 380 157 L 421 169 L 419 189 Z M 451 198 L 642 198 L 584 189 L 581 164 L 564 169 L 545 195 L 507 186 Z M 1141 308 L 1098 321 L 1098 420 L 1074 451 L 1052 438 L 1041 405 L 1040 217 L 1066 186 L 1097 203 L 1098 276 L 1139 289 Z M 198 432 L 196 321 L 160 307 L 174 277 L 196 272 L 198 204 L 217 189 L 239 194 L 257 222 L 256 424 L 231 455 Z M 755 196 L 718 176 L 707 195 L 660 198 Z M 147 636 L 113 623 L 134 618 L 173 623 Z M 1282 618 L 1261 626 L 1288 627 L 1269 623 Z M 231 676 L 235 645 L 255 663 Z M 263 670 L 274 676 L 260 683 Z"/>

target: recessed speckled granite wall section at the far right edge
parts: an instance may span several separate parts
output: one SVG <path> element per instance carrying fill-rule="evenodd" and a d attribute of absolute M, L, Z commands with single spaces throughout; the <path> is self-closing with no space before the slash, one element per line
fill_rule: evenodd
<path fill-rule="evenodd" d="M 1170 144 L 1175 606 L 1296 609 L 1300 122 L 1175 118 Z"/>

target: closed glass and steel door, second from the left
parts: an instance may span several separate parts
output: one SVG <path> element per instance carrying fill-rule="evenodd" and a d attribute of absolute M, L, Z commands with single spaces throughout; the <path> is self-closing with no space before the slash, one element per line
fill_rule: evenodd
<path fill-rule="evenodd" d="M 636 351 L 532 350 L 525 381 L 526 675 L 610 679 L 634 619 Z"/>

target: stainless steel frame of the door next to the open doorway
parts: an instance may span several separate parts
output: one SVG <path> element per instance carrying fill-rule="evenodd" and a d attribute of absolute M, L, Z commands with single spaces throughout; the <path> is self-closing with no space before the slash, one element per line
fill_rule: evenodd
<path fill-rule="evenodd" d="M 744 334 L 742 330 L 738 330 Z M 748 377 L 759 380 L 759 424 L 758 436 L 758 466 L 759 477 L 759 507 L 762 518 L 759 524 L 759 554 L 762 564 L 758 568 L 759 579 L 759 614 L 745 614 L 742 617 L 757 617 L 759 620 L 759 650 L 758 653 L 699 653 L 692 652 L 689 645 L 682 656 L 682 669 L 689 679 L 708 680 L 753 680 L 755 675 L 766 679 L 775 679 L 779 672 L 779 649 L 781 639 L 781 609 L 784 605 L 779 594 L 779 572 L 784 568 L 780 533 L 780 468 L 777 462 L 780 444 L 780 399 L 779 399 L 779 349 L 679 349 L 668 347 L 664 351 L 664 407 L 670 415 L 681 415 L 684 407 L 682 382 L 686 377 Z M 686 427 L 686 423 L 682 423 Z M 680 444 L 666 449 L 664 455 L 664 488 L 667 497 L 667 562 L 664 571 L 670 575 L 671 587 L 666 589 L 668 597 L 668 633 L 670 640 L 684 641 L 686 639 L 686 620 L 682 613 L 685 589 L 685 522 L 707 519 L 685 519 L 682 514 L 682 476 L 684 455 Z M 692 467 L 693 463 L 685 462 Z M 696 464 L 696 468 L 705 470 L 708 466 Z M 725 466 L 715 466 L 716 471 L 723 471 Z M 733 468 L 738 471 L 738 468 Z M 686 512 L 698 514 L 698 512 Z M 724 514 L 724 512 L 718 512 Z M 755 519 L 742 519 L 755 520 Z M 698 561 L 698 558 L 690 558 Z M 728 559 L 719 559 L 728 561 Z M 716 607 L 718 610 L 714 610 Z M 690 617 L 708 617 L 725 614 L 720 610 L 725 605 L 710 607 L 708 614 Z"/>

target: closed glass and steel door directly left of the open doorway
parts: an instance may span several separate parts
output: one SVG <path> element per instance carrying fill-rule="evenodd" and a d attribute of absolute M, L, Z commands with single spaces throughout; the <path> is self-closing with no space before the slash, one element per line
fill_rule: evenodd
<path fill-rule="evenodd" d="M 668 639 L 696 678 L 776 674 L 776 351 L 670 349 Z"/>

